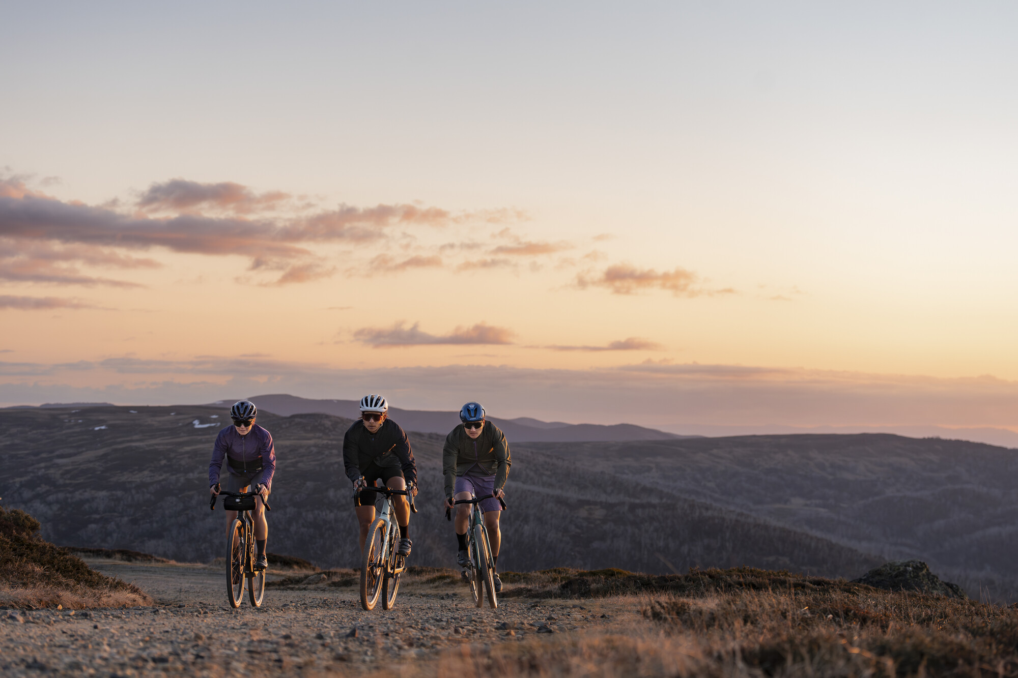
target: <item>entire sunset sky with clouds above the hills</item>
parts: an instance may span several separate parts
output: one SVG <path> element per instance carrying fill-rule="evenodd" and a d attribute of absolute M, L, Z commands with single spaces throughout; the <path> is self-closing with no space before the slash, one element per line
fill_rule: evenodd
<path fill-rule="evenodd" d="M 2 404 L 1018 431 L 1013 4 L 4 15 Z"/>

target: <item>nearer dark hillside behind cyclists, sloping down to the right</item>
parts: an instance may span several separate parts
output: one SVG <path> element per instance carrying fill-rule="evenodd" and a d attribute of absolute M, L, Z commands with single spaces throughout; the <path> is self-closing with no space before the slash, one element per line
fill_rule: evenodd
<path fill-rule="evenodd" d="M 207 482 L 223 418 L 221 406 L 0 410 L 0 496 L 35 515 L 43 536 L 58 545 L 208 561 L 223 550 L 224 517 L 209 511 Z M 325 567 L 357 565 L 357 526 L 340 457 L 350 419 L 265 413 L 260 422 L 273 433 L 278 453 L 270 550 Z M 444 437 L 410 437 L 421 477 L 412 558 L 449 566 L 455 538 L 442 507 Z M 828 539 L 679 496 L 653 478 L 590 468 L 546 446 L 513 446 L 503 570 L 665 573 L 753 565 L 858 576 L 880 562 Z"/>

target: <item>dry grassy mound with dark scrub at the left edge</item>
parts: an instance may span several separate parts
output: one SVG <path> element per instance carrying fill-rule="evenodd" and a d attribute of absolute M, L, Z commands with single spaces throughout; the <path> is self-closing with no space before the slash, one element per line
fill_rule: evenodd
<path fill-rule="evenodd" d="M 152 604 L 137 586 L 96 572 L 38 531 L 39 521 L 27 513 L 0 507 L 0 604 L 72 609 Z"/>

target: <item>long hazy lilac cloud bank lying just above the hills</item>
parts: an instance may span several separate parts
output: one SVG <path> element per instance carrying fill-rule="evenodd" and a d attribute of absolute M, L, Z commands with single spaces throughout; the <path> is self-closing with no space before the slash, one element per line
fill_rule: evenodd
<path fill-rule="evenodd" d="M 1018 383 L 802 369 L 669 364 L 536 370 L 464 365 L 338 370 L 264 357 L 0 361 L 0 402 L 213 402 L 254 393 L 356 399 L 411 409 L 485 403 L 501 416 L 667 427 L 1018 428 Z"/>

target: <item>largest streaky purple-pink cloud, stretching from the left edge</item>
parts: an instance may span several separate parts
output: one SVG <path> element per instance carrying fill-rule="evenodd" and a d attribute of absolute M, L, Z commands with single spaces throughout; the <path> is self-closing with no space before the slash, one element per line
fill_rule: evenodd
<path fill-rule="evenodd" d="M 252 271 L 278 272 L 275 284 L 306 282 L 332 275 L 336 267 L 314 252 L 310 245 L 375 242 L 392 229 L 411 226 L 444 227 L 479 221 L 500 223 L 521 218 L 513 210 L 453 213 L 436 207 L 395 204 L 331 210 L 307 210 L 282 215 L 266 211 L 285 203 L 282 191 L 256 192 L 232 183 L 199 183 L 186 179 L 156 183 L 143 193 L 134 212 L 117 211 L 116 204 L 92 207 L 56 200 L 33 191 L 23 178 L 0 177 L 0 278 L 64 284 L 126 284 L 80 274 L 45 261 L 77 261 L 101 267 L 157 266 L 153 260 L 128 257 L 123 250 L 166 248 L 206 256 L 240 256 L 251 260 Z M 49 253 L 43 249 L 49 248 Z M 54 258 L 61 247 L 84 251 Z M 394 266 L 433 266 L 421 256 Z"/>

